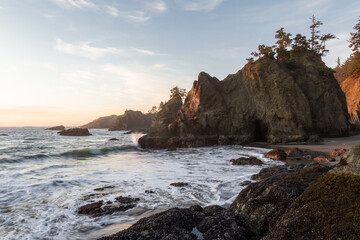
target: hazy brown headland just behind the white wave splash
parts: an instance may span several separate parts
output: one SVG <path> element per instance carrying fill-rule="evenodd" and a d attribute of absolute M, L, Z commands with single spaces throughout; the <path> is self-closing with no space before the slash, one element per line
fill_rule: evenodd
<path fill-rule="evenodd" d="M 152 114 L 143 114 L 140 111 L 127 110 L 123 115 L 117 118 L 115 124 L 109 128 L 109 130 L 147 129 L 151 127 L 152 118 Z"/>

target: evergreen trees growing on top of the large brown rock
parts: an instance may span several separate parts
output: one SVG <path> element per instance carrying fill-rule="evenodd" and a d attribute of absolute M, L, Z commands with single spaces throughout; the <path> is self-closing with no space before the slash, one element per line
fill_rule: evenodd
<path fill-rule="evenodd" d="M 336 38 L 333 34 L 322 34 L 318 28 L 323 25 L 321 21 L 316 20 L 313 15 L 311 18 L 312 24 L 310 28 L 310 39 L 306 39 L 301 34 L 296 34 L 294 38 L 291 38 L 292 34 L 284 31 L 284 28 L 280 28 L 276 31 L 275 38 L 277 39 L 276 45 L 266 46 L 264 44 L 258 46 L 257 52 L 252 52 L 253 57 L 247 58 L 248 62 L 253 62 L 254 58 L 270 57 L 278 60 L 291 59 L 291 51 L 312 51 L 320 56 L 325 56 L 329 52 L 326 49 L 326 42 Z M 293 63 L 290 63 L 290 68 L 295 67 Z"/>

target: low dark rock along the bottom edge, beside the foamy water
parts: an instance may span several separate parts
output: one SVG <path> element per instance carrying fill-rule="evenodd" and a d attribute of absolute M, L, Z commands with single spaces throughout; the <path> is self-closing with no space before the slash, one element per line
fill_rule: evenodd
<path fill-rule="evenodd" d="M 239 239 L 253 236 L 247 221 L 219 206 L 172 208 L 140 219 L 130 228 L 102 240 Z M 201 239 L 201 238 L 200 238 Z"/>

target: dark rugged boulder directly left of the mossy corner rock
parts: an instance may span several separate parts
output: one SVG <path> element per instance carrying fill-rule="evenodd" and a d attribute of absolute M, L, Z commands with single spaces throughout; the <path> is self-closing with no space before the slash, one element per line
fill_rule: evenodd
<path fill-rule="evenodd" d="M 279 173 L 271 171 L 269 177 L 247 186 L 229 208 L 235 215 L 249 219 L 257 239 L 266 234 L 287 207 L 330 168 L 312 165 L 296 171 L 280 169 Z M 267 174 L 260 176 L 264 175 Z"/>

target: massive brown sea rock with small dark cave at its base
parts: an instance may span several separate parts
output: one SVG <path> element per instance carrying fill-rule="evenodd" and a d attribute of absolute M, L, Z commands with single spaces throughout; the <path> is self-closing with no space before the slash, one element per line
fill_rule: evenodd
<path fill-rule="evenodd" d="M 293 53 L 295 67 L 263 57 L 223 81 L 200 73 L 176 120 L 142 147 L 169 148 L 249 141 L 306 141 L 348 134 L 345 95 L 321 58 Z M 162 146 L 161 144 L 164 144 Z"/>

